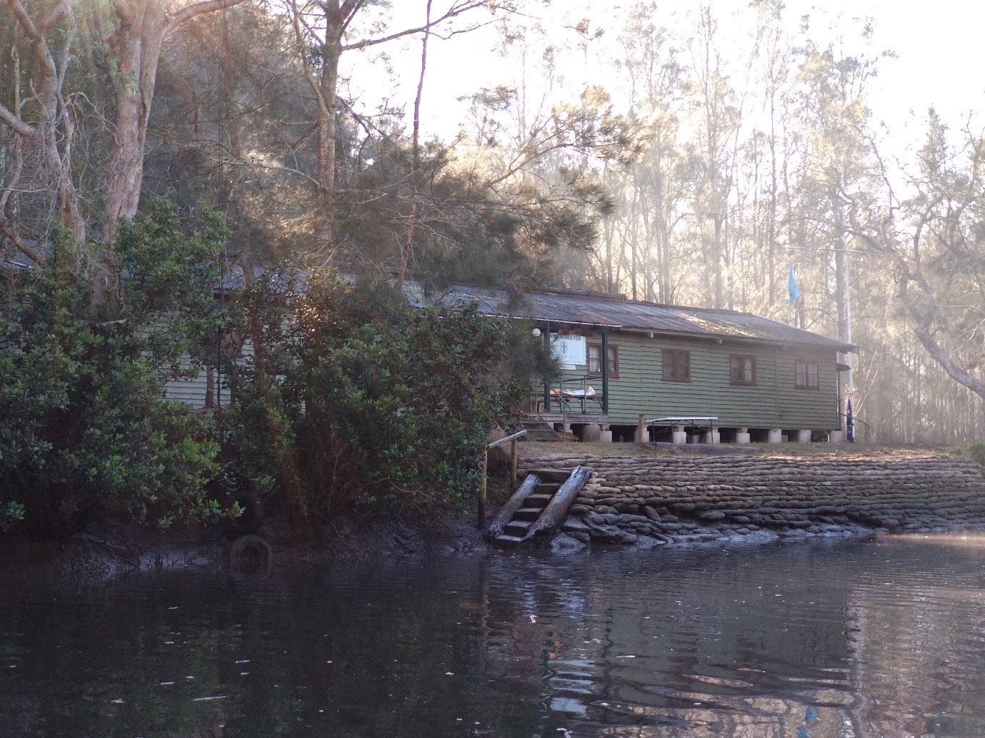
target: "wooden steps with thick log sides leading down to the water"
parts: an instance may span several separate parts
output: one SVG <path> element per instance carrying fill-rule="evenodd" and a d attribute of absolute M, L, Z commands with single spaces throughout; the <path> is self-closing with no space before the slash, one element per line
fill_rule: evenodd
<path fill-rule="evenodd" d="M 591 471 L 584 466 L 570 472 L 531 469 L 490 523 L 487 536 L 500 546 L 519 546 L 550 533 L 564 522 L 589 476 Z"/>

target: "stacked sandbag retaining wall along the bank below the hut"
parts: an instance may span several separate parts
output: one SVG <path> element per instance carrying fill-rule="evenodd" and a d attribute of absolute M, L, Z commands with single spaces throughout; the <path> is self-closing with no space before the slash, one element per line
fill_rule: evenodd
<path fill-rule="evenodd" d="M 585 543 L 985 528 L 982 467 L 959 458 L 568 453 L 521 461 L 592 469 L 563 526 Z"/>

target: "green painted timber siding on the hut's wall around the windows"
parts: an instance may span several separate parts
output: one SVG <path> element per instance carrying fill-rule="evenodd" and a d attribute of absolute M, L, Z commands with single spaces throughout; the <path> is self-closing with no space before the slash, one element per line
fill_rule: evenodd
<path fill-rule="evenodd" d="M 598 334 L 589 342 L 600 342 Z M 832 350 L 765 343 L 613 332 L 609 345 L 619 350 L 619 379 L 609 380 L 609 422 L 635 425 L 671 415 L 717 415 L 719 427 L 834 430 L 838 422 L 838 377 Z M 664 382 L 661 349 L 690 352 L 690 381 Z M 730 354 L 755 356 L 755 385 L 730 384 Z M 796 361 L 817 362 L 818 389 L 796 387 Z M 563 373 L 584 375 L 584 369 Z M 602 378 L 588 382 L 602 392 Z M 570 383 L 568 386 L 571 386 Z M 601 411 L 597 405 L 592 411 Z"/>

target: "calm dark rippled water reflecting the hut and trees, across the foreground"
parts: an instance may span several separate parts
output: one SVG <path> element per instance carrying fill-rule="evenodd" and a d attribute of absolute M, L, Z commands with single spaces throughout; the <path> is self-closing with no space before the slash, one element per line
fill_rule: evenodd
<path fill-rule="evenodd" d="M 0 594 L 2 736 L 985 736 L 985 541 Z"/>

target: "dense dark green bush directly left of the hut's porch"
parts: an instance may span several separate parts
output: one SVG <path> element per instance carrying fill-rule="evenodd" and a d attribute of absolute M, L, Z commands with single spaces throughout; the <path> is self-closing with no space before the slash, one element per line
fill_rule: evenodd
<path fill-rule="evenodd" d="M 244 297 L 262 339 L 228 416 L 240 483 L 280 479 L 305 515 L 461 506 L 489 431 L 514 419 L 515 332 L 474 305 L 413 309 L 386 282 L 317 275 L 296 295 L 290 283 Z"/>

